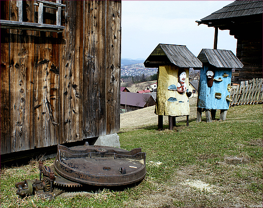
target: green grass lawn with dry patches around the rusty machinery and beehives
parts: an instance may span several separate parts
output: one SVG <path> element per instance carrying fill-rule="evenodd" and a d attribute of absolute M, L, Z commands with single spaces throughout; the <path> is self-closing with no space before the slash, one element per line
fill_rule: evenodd
<path fill-rule="evenodd" d="M 118 134 L 121 148 L 146 152 L 147 175 L 135 187 L 22 199 L 15 183 L 38 178 L 38 161 L 31 161 L 1 169 L 1 207 L 262 207 L 262 105 L 232 107 L 226 121 L 164 128 Z"/>

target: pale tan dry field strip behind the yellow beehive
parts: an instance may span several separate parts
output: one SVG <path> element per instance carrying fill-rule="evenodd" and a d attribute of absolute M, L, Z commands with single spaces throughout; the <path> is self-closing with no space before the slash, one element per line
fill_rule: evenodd
<path fill-rule="evenodd" d="M 189 119 L 196 119 L 196 102 L 197 98 L 190 98 L 190 115 Z M 155 106 L 122 113 L 120 114 L 120 132 L 132 129 L 158 125 L 158 115 L 154 113 Z M 176 118 L 177 121 L 186 121 L 186 116 Z M 168 116 L 163 116 L 163 124 L 168 124 Z"/>

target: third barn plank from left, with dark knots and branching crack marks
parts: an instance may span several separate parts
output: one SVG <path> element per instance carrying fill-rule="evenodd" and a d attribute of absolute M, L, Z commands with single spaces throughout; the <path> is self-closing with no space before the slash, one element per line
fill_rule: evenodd
<path fill-rule="evenodd" d="M 39 9 L 39 8 L 38 8 Z M 53 9 L 46 9 L 47 24 Z M 56 33 L 35 31 L 34 49 L 34 109 L 35 146 L 56 145 L 59 141 L 59 47 Z"/>

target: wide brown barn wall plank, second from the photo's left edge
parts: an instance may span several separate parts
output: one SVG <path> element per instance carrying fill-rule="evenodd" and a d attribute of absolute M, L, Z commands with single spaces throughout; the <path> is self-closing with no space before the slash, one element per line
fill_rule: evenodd
<path fill-rule="evenodd" d="M 17 12 L 11 2 L 11 11 Z M 14 15 L 12 18 L 16 18 Z M 13 20 L 11 18 L 11 20 Z M 33 36 L 11 31 L 11 152 L 33 148 Z"/>

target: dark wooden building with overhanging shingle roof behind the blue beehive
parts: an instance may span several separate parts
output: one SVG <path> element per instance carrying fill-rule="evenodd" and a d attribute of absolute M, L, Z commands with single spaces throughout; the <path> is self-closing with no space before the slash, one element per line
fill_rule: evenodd
<path fill-rule="evenodd" d="M 236 56 L 244 67 L 232 74 L 236 83 L 262 78 L 262 5 L 262 0 L 238 0 L 197 21 L 215 28 L 215 40 L 218 28 L 237 39 Z"/>

